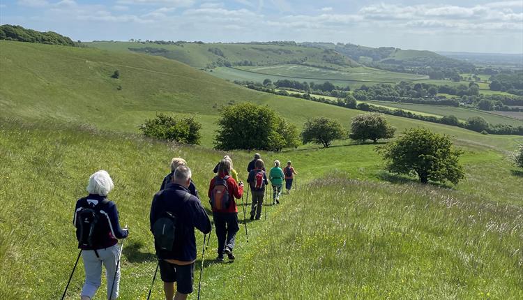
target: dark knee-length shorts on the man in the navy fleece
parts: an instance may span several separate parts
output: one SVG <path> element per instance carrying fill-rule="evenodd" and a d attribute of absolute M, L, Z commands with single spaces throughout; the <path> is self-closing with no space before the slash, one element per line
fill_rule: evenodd
<path fill-rule="evenodd" d="M 160 278 L 164 283 L 176 283 L 176 290 L 181 294 L 192 293 L 195 263 L 179 266 L 160 260 Z"/>

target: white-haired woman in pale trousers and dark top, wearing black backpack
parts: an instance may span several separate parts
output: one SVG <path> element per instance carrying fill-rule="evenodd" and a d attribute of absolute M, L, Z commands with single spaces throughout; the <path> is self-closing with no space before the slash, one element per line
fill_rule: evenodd
<path fill-rule="evenodd" d="M 107 299 L 118 298 L 118 239 L 125 239 L 129 231 L 120 227 L 116 204 L 107 199 L 107 194 L 113 188 L 114 183 L 109 173 L 104 170 L 98 171 L 89 177 L 89 196 L 76 202 L 73 224 L 77 228 L 78 248 L 82 249 L 85 269 L 82 300 L 93 299 L 102 284 L 102 264 L 107 276 Z"/>

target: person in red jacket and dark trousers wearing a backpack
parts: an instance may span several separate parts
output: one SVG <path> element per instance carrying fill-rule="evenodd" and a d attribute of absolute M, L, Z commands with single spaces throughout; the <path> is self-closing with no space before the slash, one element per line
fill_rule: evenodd
<path fill-rule="evenodd" d="M 218 237 L 218 257 L 216 260 L 219 262 L 223 261 L 224 253 L 227 254 L 229 260 L 234 260 L 232 250 L 236 232 L 240 230 L 238 207 L 236 207 L 234 198 L 240 199 L 243 195 L 243 183 L 240 181 L 239 184 L 236 184 L 236 181 L 230 176 L 230 172 L 230 160 L 220 161 L 218 175 L 211 180 L 209 185 L 209 199 L 211 199 L 214 227 L 216 237 Z M 228 206 L 222 204 L 227 202 Z"/>

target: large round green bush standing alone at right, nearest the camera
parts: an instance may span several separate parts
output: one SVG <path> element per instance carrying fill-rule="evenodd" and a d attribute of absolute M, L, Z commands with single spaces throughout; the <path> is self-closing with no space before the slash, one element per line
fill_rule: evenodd
<path fill-rule="evenodd" d="M 400 139 L 381 148 L 386 169 L 397 174 L 417 174 L 421 183 L 464 179 L 460 165 L 462 151 L 455 149 L 448 135 L 432 133 L 425 128 L 404 131 Z"/>

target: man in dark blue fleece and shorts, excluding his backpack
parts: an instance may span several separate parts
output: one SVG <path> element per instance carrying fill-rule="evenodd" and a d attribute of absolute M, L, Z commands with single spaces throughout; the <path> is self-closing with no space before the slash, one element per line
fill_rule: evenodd
<path fill-rule="evenodd" d="M 211 220 L 198 198 L 190 194 L 191 171 L 185 165 L 176 168 L 172 184 L 154 195 L 151 204 L 151 232 L 153 225 L 166 211 L 176 216 L 176 234 L 171 251 L 156 252 L 160 260 L 160 277 L 166 299 L 183 300 L 192 293 L 196 261 L 195 228 L 204 234 L 211 232 Z M 176 282 L 176 295 L 174 283 Z"/>

